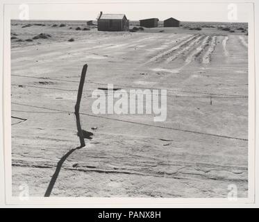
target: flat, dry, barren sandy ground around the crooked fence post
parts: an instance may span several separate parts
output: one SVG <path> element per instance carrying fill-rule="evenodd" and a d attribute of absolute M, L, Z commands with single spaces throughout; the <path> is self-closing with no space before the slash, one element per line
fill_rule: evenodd
<path fill-rule="evenodd" d="M 51 196 L 226 198 L 234 184 L 247 197 L 246 33 L 183 27 L 109 33 L 43 24 L 12 23 L 11 36 L 21 41 L 51 35 L 12 40 L 14 196 L 26 183 L 31 196 L 49 187 Z M 85 63 L 81 122 L 94 136 L 73 151 Z M 107 83 L 127 91 L 167 89 L 167 121 L 154 122 L 153 114 L 91 116 L 92 91 Z"/>

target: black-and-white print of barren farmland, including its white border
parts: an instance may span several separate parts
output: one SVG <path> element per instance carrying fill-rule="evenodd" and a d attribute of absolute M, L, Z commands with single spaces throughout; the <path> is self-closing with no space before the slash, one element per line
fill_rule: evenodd
<path fill-rule="evenodd" d="M 13 198 L 251 200 L 252 3 L 7 8 Z"/>

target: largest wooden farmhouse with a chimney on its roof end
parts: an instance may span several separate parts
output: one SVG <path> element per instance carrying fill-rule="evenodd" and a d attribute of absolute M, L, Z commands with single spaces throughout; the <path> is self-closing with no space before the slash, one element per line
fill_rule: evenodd
<path fill-rule="evenodd" d="M 129 20 L 124 14 L 103 14 L 97 18 L 98 31 L 126 31 L 129 29 Z"/>

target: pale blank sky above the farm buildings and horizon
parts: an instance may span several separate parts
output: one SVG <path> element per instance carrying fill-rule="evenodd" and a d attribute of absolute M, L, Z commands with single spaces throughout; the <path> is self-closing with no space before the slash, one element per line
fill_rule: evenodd
<path fill-rule="evenodd" d="M 29 4 L 29 19 L 92 20 L 100 11 L 122 13 L 130 20 L 174 17 L 184 22 L 248 22 L 251 3 L 236 3 L 236 17 L 229 17 L 233 6 L 228 3 L 81 3 L 81 4 Z M 11 19 L 19 19 L 19 5 L 7 5 Z M 234 9 L 234 10 L 235 10 Z M 233 14 L 231 14 L 233 15 Z M 231 18 L 231 19 L 229 19 Z M 234 19 L 233 19 L 234 18 Z"/>

